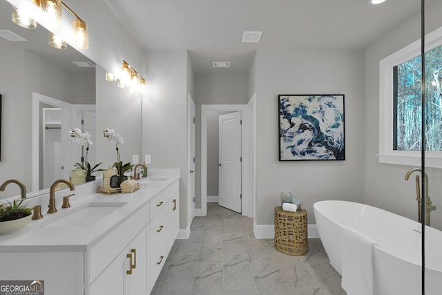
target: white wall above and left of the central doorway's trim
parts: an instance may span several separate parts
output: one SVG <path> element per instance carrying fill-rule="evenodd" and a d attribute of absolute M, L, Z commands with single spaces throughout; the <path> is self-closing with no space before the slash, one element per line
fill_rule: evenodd
<path fill-rule="evenodd" d="M 195 75 L 196 104 L 196 200 L 201 208 L 201 105 L 202 104 L 247 104 L 248 76 L 245 74 L 197 74 Z"/>

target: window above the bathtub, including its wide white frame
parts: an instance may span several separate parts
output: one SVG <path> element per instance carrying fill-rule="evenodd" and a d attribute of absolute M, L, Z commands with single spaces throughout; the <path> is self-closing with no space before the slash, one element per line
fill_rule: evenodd
<path fill-rule="evenodd" d="M 442 28 L 426 37 L 425 164 L 442 168 Z M 379 162 L 420 166 L 421 42 L 380 61 Z"/>

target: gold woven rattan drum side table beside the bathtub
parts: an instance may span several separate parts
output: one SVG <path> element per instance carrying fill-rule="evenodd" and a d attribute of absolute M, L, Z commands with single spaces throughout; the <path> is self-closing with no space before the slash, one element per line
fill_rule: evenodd
<path fill-rule="evenodd" d="M 275 207 L 275 248 L 289 255 L 307 253 L 307 210 L 289 212 Z"/>

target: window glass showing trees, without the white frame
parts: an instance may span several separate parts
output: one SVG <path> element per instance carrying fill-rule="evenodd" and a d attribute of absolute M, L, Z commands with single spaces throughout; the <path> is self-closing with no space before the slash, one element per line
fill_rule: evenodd
<path fill-rule="evenodd" d="M 421 55 L 393 68 L 393 149 L 421 151 Z M 425 53 L 426 151 L 442 151 L 442 46 Z"/>

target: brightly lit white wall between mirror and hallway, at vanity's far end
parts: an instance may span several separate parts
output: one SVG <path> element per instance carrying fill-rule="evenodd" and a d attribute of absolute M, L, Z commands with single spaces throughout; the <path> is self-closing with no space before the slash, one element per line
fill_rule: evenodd
<path fill-rule="evenodd" d="M 187 52 L 148 50 L 144 54 L 148 95 L 143 100 L 142 155 L 151 168 L 179 168 L 180 228 L 187 227 Z"/>

